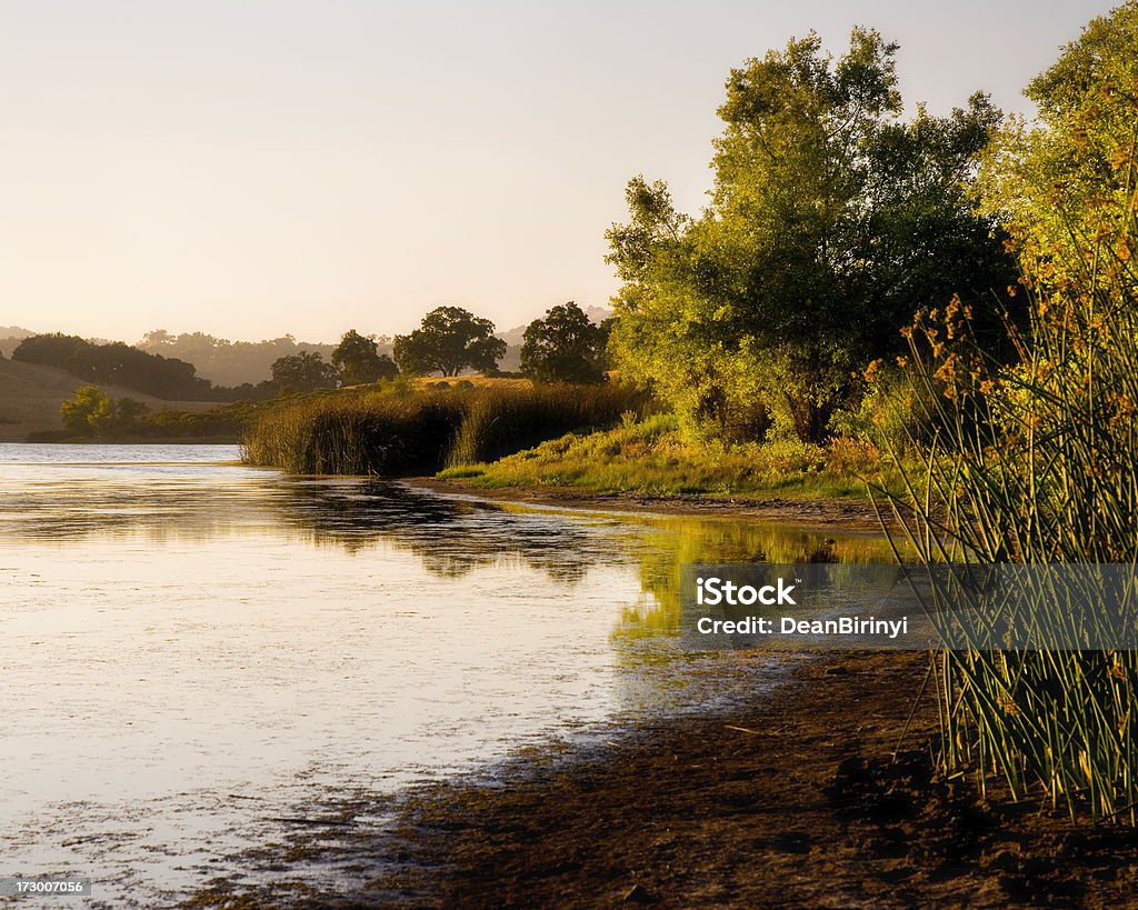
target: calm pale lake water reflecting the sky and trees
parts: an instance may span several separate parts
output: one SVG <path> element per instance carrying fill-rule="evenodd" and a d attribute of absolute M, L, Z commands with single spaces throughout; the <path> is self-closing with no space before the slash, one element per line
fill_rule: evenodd
<path fill-rule="evenodd" d="M 864 536 L 504 510 L 237 457 L 0 445 L 0 877 L 168 902 L 330 795 L 493 774 L 526 745 L 741 697 L 777 671 L 678 652 L 681 562 L 887 556 Z"/>

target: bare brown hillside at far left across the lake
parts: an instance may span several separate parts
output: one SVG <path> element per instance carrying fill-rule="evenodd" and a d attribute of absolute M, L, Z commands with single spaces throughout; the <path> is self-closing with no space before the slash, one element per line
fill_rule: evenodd
<path fill-rule="evenodd" d="M 36 430 L 61 430 L 59 405 L 85 384 L 65 370 L 11 359 L 0 361 L 0 442 L 20 442 Z M 208 411 L 215 402 L 162 402 L 117 386 L 101 388 L 112 398 L 133 398 L 152 411 Z"/>

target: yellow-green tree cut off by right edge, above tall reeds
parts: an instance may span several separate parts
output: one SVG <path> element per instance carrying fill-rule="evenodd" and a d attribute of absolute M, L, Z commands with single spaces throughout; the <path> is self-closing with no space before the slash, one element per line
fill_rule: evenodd
<path fill-rule="evenodd" d="M 1138 168 L 1138 3 L 1092 19 L 1028 85 L 1034 124 L 1013 122 L 981 174 L 987 209 L 1012 234 L 1028 280 L 1131 282 Z"/>

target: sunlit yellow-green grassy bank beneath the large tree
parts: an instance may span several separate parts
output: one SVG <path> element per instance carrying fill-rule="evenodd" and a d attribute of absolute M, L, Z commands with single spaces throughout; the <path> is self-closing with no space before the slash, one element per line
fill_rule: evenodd
<path fill-rule="evenodd" d="M 569 433 L 500 461 L 452 465 L 443 478 L 476 486 L 579 487 L 652 495 L 772 494 L 865 497 L 866 480 L 900 491 L 900 473 L 872 445 L 782 440 L 726 446 L 693 441 L 677 419 L 627 416 L 619 427 Z"/>

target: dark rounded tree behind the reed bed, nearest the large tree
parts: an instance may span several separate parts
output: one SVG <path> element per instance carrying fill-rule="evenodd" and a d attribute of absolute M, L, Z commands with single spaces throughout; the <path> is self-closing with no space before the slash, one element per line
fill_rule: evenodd
<path fill-rule="evenodd" d="M 570 300 L 526 329 L 521 372 L 538 382 L 603 382 L 605 332 Z"/>

